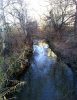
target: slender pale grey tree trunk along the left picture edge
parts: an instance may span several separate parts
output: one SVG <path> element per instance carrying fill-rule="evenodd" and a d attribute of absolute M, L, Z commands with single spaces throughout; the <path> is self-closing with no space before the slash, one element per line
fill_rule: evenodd
<path fill-rule="evenodd" d="M 7 70 L 7 51 L 6 51 L 6 20 L 5 20 L 5 15 L 4 15 L 4 7 L 3 7 L 3 0 L 0 0 L 0 7 L 1 7 L 1 22 L 2 22 L 2 32 L 1 32 L 1 36 L 2 36 L 2 54 L 3 54 L 3 58 L 4 58 L 4 64 L 3 64 L 3 70 L 4 72 L 6 72 Z"/>

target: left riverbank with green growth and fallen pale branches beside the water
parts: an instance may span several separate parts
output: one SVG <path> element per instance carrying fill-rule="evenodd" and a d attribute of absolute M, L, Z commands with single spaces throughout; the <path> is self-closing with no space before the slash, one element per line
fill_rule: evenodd
<path fill-rule="evenodd" d="M 21 76 L 26 72 L 30 66 L 30 58 L 32 56 L 32 46 L 25 45 L 24 49 L 16 58 L 7 57 L 9 66 L 6 70 L 7 78 L 3 80 L 3 84 L 0 90 L 0 100 L 14 100 L 17 92 L 22 89 L 25 84 L 24 81 L 20 81 Z"/>

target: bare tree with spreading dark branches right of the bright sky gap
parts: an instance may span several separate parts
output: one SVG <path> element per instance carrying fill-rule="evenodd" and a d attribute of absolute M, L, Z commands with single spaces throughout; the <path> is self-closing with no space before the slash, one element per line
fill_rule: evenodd
<path fill-rule="evenodd" d="M 47 20 L 55 31 L 61 31 L 70 19 L 74 17 L 74 11 L 71 8 L 72 2 L 69 0 L 55 0 L 55 2 L 51 1 L 50 5 L 51 10 Z"/>

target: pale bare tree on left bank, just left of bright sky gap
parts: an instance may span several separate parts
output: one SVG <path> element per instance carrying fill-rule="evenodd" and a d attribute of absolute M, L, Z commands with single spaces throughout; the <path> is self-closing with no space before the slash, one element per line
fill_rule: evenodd
<path fill-rule="evenodd" d="M 23 33 L 27 36 L 27 31 L 26 31 L 27 9 L 26 7 L 25 8 L 23 7 L 23 0 L 15 0 L 15 1 L 12 0 L 11 6 L 13 7 L 13 10 L 10 11 L 10 14 L 13 17 L 15 16 L 15 18 L 19 20 L 21 29 Z M 19 5 L 19 8 L 17 8 L 17 5 Z"/>

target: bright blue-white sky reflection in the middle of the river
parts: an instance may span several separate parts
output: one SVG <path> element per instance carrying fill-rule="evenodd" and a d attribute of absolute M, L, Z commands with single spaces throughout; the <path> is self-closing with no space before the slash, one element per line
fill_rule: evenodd
<path fill-rule="evenodd" d="M 50 65 L 54 63 L 47 56 L 48 55 L 48 45 L 38 46 L 34 45 L 34 62 L 32 63 L 32 69 L 34 72 L 38 73 L 38 75 L 46 74 L 48 70 L 50 70 Z"/>

